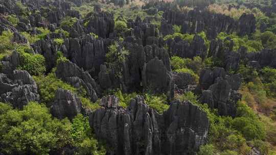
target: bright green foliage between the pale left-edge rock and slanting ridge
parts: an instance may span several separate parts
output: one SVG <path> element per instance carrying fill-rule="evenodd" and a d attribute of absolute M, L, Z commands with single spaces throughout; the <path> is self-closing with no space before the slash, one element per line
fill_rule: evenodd
<path fill-rule="evenodd" d="M 54 70 L 47 76 L 34 76 L 34 80 L 38 86 L 41 101 L 46 103 L 48 107 L 50 107 L 50 104 L 54 101 L 55 93 L 58 88 L 70 90 L 75 93 L 78 92 L 76 88 L 58 79 Z"/>

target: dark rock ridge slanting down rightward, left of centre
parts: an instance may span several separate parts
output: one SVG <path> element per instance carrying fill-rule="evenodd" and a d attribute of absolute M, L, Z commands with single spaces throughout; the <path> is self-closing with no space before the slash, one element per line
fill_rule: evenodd
<path fill-rule="evenodd" d="M 98 95 L 101 94 L 100 87 L 92 79 L 90 74 L 70 61 L 58 63 L 56 75 L 61 80 L 70 83 L 76 88 L 84 88 L 87 96 L 94 102 L 97 101 Z"/>

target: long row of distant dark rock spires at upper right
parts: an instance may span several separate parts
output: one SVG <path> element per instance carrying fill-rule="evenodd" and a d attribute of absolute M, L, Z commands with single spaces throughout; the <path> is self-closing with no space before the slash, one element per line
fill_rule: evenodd
<path fill-rule="evenodd" d="M 223 14 L 199 10 L 191 10 L 188 13 L 166 10 L 163 17 L 170 24 L 181 25 L 183 34 L 206 31 L 208 38 L 213 39 L 220 32 L 232 33 L 236 30 L 239 30 L 239 35 L 249 35 L 255 32 L 257 24 L 254 15 L 245 13 L 238 21 Z"/>

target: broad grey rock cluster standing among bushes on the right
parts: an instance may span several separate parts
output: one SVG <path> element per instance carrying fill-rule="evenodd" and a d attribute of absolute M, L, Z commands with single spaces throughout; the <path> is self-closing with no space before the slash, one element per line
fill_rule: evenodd
<path fill-rule="evenodd" d="M 210 108 L 218 109 L 220 115 L 235 117 L 237 102 L 241 99 L 238 90 L 241 86 L 241 76 L 226 75 L 223 68 L 203 69 L 200 73 L 200 101 Z"/>

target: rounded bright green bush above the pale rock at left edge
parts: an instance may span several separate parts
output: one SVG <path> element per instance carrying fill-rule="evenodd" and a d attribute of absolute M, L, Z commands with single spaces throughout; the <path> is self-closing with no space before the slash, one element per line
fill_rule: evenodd
<path fill-rule="evenodd" d="M 27 70 L 31 75 L 44 74 L 45 68 L 45 58 L 40 54 L 27 53 L 30 50 L 28 46 L 20 46 L 16 49 L 19 53 L 20 66 L 18 69 Z"/>

